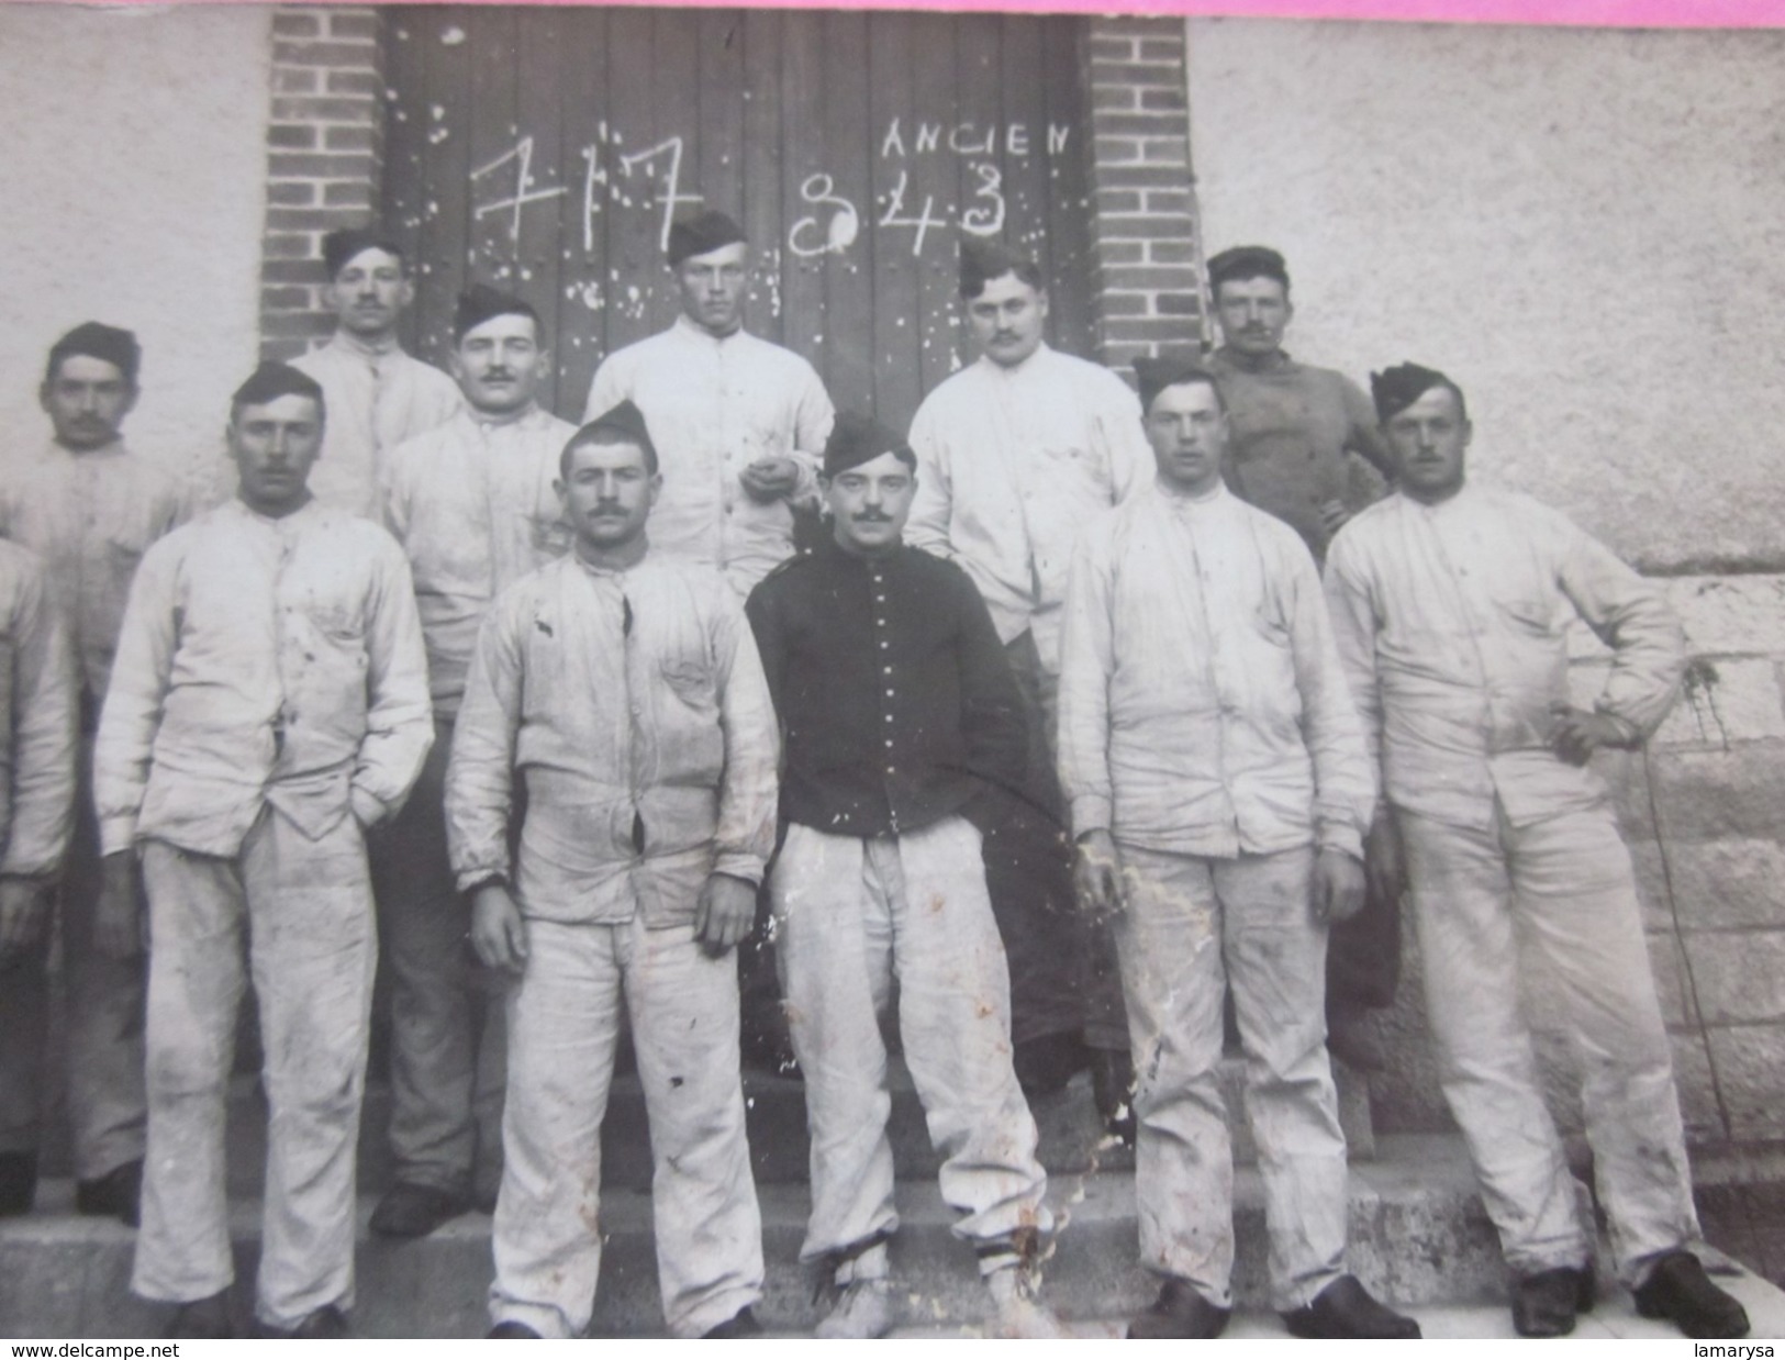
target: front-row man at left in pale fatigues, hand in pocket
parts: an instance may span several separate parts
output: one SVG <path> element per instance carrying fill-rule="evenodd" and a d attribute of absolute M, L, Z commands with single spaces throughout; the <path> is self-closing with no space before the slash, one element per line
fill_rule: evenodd
<path fill-rule="evenodd" d="M 236 391 L 237 498 L 143 557 L 95 744 L 105 928 L 148 960 L 148 1155 L 130 1287 L 170 1335 L 234 1333 L 223 1115 L 252 973 L 270 1107 L 255 1315 L 339 1337 L 377 964 L 366 832 L 427 757 L 402 548 L 307 489 L 323 394 L 286 364 Z"/>

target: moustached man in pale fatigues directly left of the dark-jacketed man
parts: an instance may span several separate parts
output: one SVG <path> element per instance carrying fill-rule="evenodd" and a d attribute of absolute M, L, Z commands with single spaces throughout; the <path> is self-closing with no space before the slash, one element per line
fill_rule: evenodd
<path fill-rule="evenodd" d="M 446 825 L 471 942 L 518 978 L 491 1337 L 589 1326 L 621 1008 L 664 1317 L 677 1337 L 759 1331 L 732 948 L 775 848 L 775 712 L 730 587 L 646 539 L 660 485 L 630 402 L 571 437 L 559 489 L 575 550 L 496 601 L 453 735 Z"/>

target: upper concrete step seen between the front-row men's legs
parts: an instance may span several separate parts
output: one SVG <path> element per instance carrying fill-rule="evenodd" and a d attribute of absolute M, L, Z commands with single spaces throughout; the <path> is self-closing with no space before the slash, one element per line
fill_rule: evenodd
<path fill-rule="evenodd" d="M 1369 1123 L 1369 1087 L 1362 1076 L 1335 1064 L 1339 1085 L 1339 1123 L 1353 1160 L 1374 1155 Z M 1244 1117 L 1244 1064 L 1223 1062 L 1221 1089 L 1228 1103 L 1228 1130 L 1233 1157 L 1241 1165 L 1257 1162 L 1251 1130 Z M 941 1157 L 930 1146 L 923 1107 L 912 1089 L 910 1073 L 894 1062 L 891 1076 L 892 1115 L 887 1137 L 900 1180 L 934 1180 Z M 759 1185 L 803 1183 L 807 1180 L 805 1083 L 766 1073 L 744 1074 L 750 1160 Z M 1064 1090 L 1030 1103 L 1041 1133 L 1041 1164 L 1050 1173 L 1132 1171 L 1133 1151 L 1110 1139 L 1091 1098 L 1091 1076 L 1080 1073 Z M 386 1124 L 391 1117 L 391 1092 L 382 1082 L 368 1083 L 361 1117 L 359 1185 L 378 1192 L 391 1185 L 391 1151 Z M 266 1099 L 259 1080 L 237 1076 L 230 1087 L 228 1110 L 228 1192 L 255 1196 L 266 1167 Z M 644 1092 L 634 1074 L 614 1078 L 602 1130 L 602 1183 L 648 1190 L 652 1183 L 650 1132 L 644 1117 Z"/>

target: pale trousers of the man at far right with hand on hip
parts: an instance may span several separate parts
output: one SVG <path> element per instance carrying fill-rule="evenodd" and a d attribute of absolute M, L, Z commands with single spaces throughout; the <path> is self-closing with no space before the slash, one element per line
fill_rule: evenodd
<path fill-rule="evenodd" d="M 1692 1178 L 1630 851 L 1610 807 L 1489 830 L 1399 812 L 1439 1080 L 1517 1274 L 1582 1265 L 1590 1237 L 1544 1105 L 1519 951 L 1557 1001 L 1582 1076 L 1587 1140 L 1617 1273 L 1698 1237 Z"/>

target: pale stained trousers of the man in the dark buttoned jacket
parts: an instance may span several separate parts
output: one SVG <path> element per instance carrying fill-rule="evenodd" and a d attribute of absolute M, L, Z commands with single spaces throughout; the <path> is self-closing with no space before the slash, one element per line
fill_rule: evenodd
<path fill-rule="evenodd" d="M 812 1137 L 812 1217 L 800 1260 L 898 1228 L 887 1140 L 892 978 L 905 1064 L 942 1153 L 942 1199 L 982 1273 L 1046 1235 L 1048 1173 L 1010 1067 L 1010 974 L 985 894 L 980 833 L 964 817 L 862 839 L 789 826 L 769 876 L 776 962 Z M 878 1260 L 878 1256 L 875 1258 Z"/>

